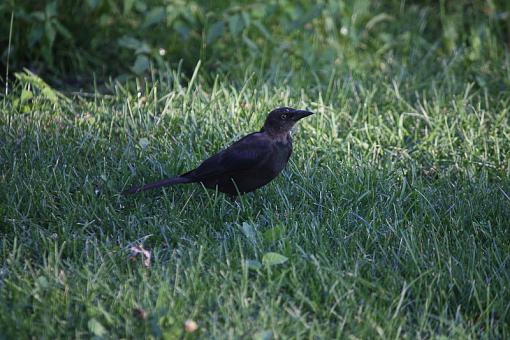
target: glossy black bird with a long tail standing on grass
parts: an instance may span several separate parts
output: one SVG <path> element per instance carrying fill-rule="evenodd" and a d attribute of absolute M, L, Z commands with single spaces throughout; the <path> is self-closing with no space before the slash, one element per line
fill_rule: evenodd
<path fill-rule="evenodd" d="M 292 153 L 290 130 L 310 111 L 281 107 L 269 113 L 264 126 L 223 151 L 206 159 L 195 170 L 159 182 L 133 187 L 122 194 L 168 185 L 202 183 L 231 196 L 254 191 L 269 183 L 285 168 Z"/>

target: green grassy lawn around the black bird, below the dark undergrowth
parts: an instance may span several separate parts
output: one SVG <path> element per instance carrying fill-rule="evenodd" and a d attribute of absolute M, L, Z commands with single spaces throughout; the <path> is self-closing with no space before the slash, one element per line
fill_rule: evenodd
<path fill-rule="evenodd" d="M 478 19 L 457 40 L 392 31 L 422 14 L 331 63 L 318 32 L 302 64 L 169 64 L 82 92 L 18 70 L 0 98 L 0 338 L 510 337 L 510 54 Z M 279 106 L 316 114 L 262 189 L 119 194 Z"/>

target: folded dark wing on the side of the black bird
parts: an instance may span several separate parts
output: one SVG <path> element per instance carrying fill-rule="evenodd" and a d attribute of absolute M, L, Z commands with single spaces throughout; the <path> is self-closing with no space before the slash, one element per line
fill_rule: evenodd
<path fill-rule="evenodd" d="M 267 159 L 270 145 L 254 135 L 244 137 L 182 176 L 203 181 L 256 167 Z"/>

